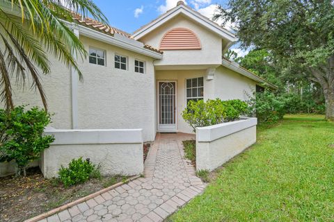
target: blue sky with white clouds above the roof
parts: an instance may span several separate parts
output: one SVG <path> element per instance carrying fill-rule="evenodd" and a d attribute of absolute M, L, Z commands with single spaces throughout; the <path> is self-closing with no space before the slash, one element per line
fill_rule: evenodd
<path fill-rule="evenodd" d="M 174 8 L 178 0 L 93 0 L 102 10 L 113 27 L 127 33 L 133 33 L 141 26 L 148 24 L 170 8 Z M 187 6 L 197 10 L 206 17 L 212 18 L 217 4 L 226 6 L 228 0 L 183 0 Z M 218 21 L 219 23 L 219 21 Z M 230 28 L 227 24 L 226 28 Z M 247 51 L 239 49 L 238 44 L 232 46 L 239 56 Z"/>

